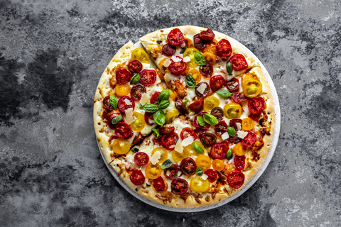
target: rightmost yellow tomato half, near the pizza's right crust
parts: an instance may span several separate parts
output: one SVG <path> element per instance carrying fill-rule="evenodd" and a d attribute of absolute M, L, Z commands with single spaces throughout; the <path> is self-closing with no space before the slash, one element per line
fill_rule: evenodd
<path fill-rule="evenodd" d="M 245 96 L 249 98 L 258 96 L 261 93 L 262 87 L 263 85 L 261 84 L 261 82 L 259 81 L 256 75 L 247 73 L 242 78 L 243 93 Z"/>

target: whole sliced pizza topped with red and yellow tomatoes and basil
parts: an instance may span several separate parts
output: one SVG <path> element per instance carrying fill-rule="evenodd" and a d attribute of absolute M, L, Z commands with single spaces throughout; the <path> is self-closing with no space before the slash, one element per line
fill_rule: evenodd
<path fill-rule="evenodd" d="M 137 194 L 175 208 L 234 196 L 271 148 L 275 111 L 256 60 L 227 35 L 180 26 L 131 41 L 94 96 L 107 163 Z"/>

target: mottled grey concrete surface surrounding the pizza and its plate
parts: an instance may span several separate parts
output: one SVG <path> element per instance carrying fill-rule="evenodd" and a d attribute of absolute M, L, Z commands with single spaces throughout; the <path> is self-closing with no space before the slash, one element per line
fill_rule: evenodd
<path fill-rule="evenodd" d="M 0 226 L 340 226 L 340 1 L 0 1 Z M 128 40 L 210 27 L 263 62 L 281 104 L 264 174 L 218 209 L 169 213 L 109 174 L 92 125 Z"/>

